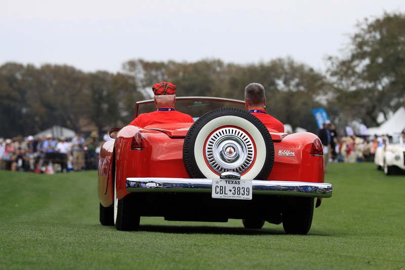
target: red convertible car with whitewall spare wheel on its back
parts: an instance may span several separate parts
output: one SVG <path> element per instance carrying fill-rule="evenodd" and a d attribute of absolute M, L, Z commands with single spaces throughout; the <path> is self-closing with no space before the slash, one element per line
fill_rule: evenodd
<path fill-rule="evenodd" d="M 98 167 L 101 224 L 135 230 L 141 216 L 233 218 L 308 233 L 314 205 L 332 196 L 316 135 L 267 129 L 239 100 L 178 97 L 176 109 L 195 123 L 110 130 L 115 140 L 103 144 Z M 135 117 L 153 110 L 153 100 L 137 102 Z"/>

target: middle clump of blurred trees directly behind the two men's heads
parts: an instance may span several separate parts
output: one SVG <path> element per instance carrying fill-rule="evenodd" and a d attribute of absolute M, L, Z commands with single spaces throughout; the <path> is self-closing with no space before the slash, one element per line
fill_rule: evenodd
<path fill-rule="evenodd" d="M 142 88 L 170 81 L 177 86 L 178 96 L 244 100 L 245 87 L 260 83 L 266 89 L 268 113 L 293 128 L 303 127 L 312 132 L 317 130 L 312 108 L 320 107 L 318 97 L 332 89 L 325 76 L 291 58 L 249 65 L 225 65 L 216 59 L 195 63 L 157 63 L 139 59 L 125 63 L 124 69 Z"/>

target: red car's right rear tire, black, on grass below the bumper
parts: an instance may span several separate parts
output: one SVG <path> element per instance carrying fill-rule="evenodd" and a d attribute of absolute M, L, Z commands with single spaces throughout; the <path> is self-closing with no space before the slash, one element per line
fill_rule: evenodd
<path fill-rule="evenodd" d="M 281 213 L 282 226 L 287 234 L 306 235 L 313 217 L 313 198 L 294 198 Z"/>

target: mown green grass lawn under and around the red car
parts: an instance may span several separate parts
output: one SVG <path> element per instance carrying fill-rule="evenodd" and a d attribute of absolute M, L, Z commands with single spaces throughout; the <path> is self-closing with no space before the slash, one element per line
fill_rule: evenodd
<path fill-rule="evenodd" d="M 405 175 L 330 164 L 333 196 L 306 236 L 282 225 L 98 220 L 97 172 L 0 171 L 0 269 L 405 269 Z"/>

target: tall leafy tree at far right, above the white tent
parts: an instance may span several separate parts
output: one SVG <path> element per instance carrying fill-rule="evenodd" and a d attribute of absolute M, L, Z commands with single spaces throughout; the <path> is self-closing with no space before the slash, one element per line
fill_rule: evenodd
<path fill-rule="evenodd" d="M 405 15 L 385 13 L 358 23 L 344 56 L 330 58 L 334 98 L 351 120 L 377 126 L 405 100 Z"/>

